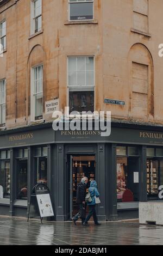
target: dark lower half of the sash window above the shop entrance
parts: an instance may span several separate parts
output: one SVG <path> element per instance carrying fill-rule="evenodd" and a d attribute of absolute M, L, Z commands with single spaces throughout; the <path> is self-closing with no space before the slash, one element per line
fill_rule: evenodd
<path fill-rule="evenodd" d="M 69 92 L 70 113 L 94 112 L 94 92 Z"/>

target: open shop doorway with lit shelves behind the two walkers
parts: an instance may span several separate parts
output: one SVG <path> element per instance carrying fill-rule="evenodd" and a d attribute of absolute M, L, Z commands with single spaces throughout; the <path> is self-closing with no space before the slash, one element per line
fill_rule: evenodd
<path fill-rule="evenodd" d="M 70 161 L 70 218 L 77 214 L 79 207 L 76 203 L 77 187 L 84 176 L 89 179 L 87 188 L 90 187 L 90 182 L 95 180 L 95 156 L 71 156 Z"/>

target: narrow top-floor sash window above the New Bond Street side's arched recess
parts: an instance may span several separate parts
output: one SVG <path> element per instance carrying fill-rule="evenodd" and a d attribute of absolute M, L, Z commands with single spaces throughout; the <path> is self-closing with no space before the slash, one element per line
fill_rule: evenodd
<path fill-rule="evenodd" d="M 41 31 L 42 28 L 42 0 L 32 1 L 32 34 Z"/>

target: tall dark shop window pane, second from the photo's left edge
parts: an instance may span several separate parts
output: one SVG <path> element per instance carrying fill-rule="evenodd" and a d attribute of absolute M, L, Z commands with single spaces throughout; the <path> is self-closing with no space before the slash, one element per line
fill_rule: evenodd
<path fill-rule="evenodd" d="M 17 161 L 17 199 L 27 200 L 27 171 L 28 162 Z"/>

